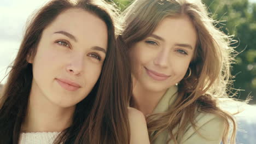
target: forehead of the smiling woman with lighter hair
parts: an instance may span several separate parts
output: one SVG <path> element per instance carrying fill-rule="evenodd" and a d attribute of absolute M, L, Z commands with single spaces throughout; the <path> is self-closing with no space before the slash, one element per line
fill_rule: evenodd
<path fill-rule="evenodd" d="M 153 34 L 172 43 L 187 43 L 195 47 L 197 32 L 188 16 L 166 17 L 155 28 Z"/>

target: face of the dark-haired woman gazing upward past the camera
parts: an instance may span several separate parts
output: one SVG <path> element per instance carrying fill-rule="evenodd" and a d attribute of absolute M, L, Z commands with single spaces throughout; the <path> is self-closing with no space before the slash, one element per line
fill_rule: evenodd
<path fill-rule="evenodd" d="M 101 74 L 107 26 L 82 9 L 68 9 L 44 29 L 34 59 L 31 94 L 70 107 L 83 100 Z"/>

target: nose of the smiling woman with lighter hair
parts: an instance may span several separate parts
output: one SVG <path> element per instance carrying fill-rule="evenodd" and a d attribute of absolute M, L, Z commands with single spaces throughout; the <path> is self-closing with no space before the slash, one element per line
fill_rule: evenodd
<path fill-rule="evenodd" d="M 159 67 L 166 68 L 168 66 L 169 57 L 169 52 L 165 49 L 162 49 L 154 58 L 153 63 Z"/>

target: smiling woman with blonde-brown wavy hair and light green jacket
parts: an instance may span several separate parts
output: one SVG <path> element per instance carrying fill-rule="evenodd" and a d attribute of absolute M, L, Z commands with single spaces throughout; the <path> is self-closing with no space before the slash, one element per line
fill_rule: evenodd
<path fill-rule="evenodd" d="M 118 40 L 127 46 L 133 76 L 130 105 L 147 117 L 150 142 L 235 143 L 235 119 L 220 109 L 234 50 L 206 6 L 135 0 L 121 22 Z"/>

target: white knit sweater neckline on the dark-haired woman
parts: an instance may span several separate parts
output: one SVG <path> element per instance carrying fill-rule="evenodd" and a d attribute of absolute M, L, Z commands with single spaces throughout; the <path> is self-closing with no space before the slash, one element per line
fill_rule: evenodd
<path fill-rule="evenodd" d="M 21 133 L 19 144 L 52 144 L 60 132 Z"/>

